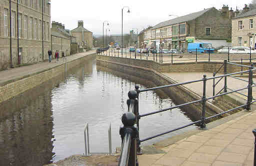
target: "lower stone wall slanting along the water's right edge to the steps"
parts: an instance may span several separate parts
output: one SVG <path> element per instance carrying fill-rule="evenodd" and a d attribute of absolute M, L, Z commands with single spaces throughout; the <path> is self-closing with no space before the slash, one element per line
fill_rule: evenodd
<path fill-rule="evenodd" d="M 169 78 L 169 77 L 161 74 L 160 72 L 156 71 L 155 69 L 153 69 L 153 67 L 155 67 L 155 66 L 152 66 L 152 68 L 151 68 L 148 63 L 155 65 L 155 63 L 152 61 L 151 62 L 148 61 L 147 64 L 145 64 L 145 65 L 143 65 L 143 67 L 141 67 L 141 66 L 139 66 L 139 63 L 136 63 L 134 60 L 131 60 L 131 59 L 125 59 L 125 60 L 127 60 L 127 61 L 131 60 L 129 62 L 131 62 L 132 65 L 120 63 L 121 62 L 120 58 L 116 58 L 116 61 L 118 61 L 118 62 L 115 62 L 112 60 L 113 59 L 112 57 L 109 57 L 109 59 L 107 59 L 108 57 L 109 56 L 97 56 L 97 65 L 102 66 L 102 67 L 107 67 L 107 68 L 110 68 L 113 70 L 121 71 L 121 72 L 130 74 L 130 75 L 134 75 L 137 77 L 142 77 L 147 80 L 151 80 L 157 86 L 177 83 L 174 80 L 172 80 L 171 78 Z M 148 66 L 148 67 L 144 67 L 144 66 Z M 174 102 L 176 104 L 181 104 L 184 102 L 190 102 L 190 101 L 201 99 L 201 97 L 199 95 L 197 95 L 196 93 L 187 89 L 184 86 L 162 88 L 161 90 L 163 90 L 166 94 L 169 94 L 171 96 L 172 100 L 174 100 Z M 183 108 L 187 111 L 187 113 L 191 117 L 193 117 L 194 119 L 199 119 L 199 117 L 201 115 L 201 109 L 202 109 L 200 103 L 189 104 L 188 106 L 184 106 Z M 215 106 L 214 104 L 212 104 L 210 102 L 206 102 L 206 112 L 209 113 L 209 115 L 212 113 L 219 113 L 221 111 L 222 110 L 220 108 L 218 108 L 217 106 Z"/>

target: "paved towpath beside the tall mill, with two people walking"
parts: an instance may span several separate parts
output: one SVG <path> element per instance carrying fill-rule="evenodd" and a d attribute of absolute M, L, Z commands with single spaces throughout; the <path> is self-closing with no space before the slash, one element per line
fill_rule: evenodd
<path fill-rule="evenodd" d="M 95 50 L 90 50 L 87 52 L 80 52 L 80 53 L 76 53 L 76 54 L 73 54 L 70 56 L 66 56 L 65 58 L 66 58 L 66 61 L 71 61 L 71 60 L 80 58 L 84 55 L 92 54 L 95 52 L 96 52 Z M 50 68 L 50 67 L 54 67 L 56 65 L 64 63 L 65 58 L 63 58 L 63 57 L 59 58 L 59 63 L 56 63 L 55 59 L 53 59 L 50 63 L 48 61 L 43 61 L 43 62 L 31 64 L 31 65 L 9 68 L 7 70 L 0 71 L 0 84 L 5 81 L 8 81 L 8 80 L 18 79 L 25 75 L 32 74 L 32 73 L 35 73 L 38 71 L 42 71 L 42 70 Z"/>

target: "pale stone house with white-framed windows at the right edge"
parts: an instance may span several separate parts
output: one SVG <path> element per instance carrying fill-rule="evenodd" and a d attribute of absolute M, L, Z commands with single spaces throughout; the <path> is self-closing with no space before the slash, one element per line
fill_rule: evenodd
<path fill-rule="evenodd" d="M 256 9 L 243 12 L 232 19 L 232 46 L 250 46 L 256 48 Z"/>

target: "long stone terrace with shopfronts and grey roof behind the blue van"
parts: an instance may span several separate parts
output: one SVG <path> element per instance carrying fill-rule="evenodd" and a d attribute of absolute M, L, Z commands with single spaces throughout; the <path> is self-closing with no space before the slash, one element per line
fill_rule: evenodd
<path fill-rule="evenodd" d="M 213 47 L 230 44 L 231 18 L 227 5 L 214 7 L 160 22 L 145 29 L 143 42 L 150 48 L 175 48 L 186 51 L 189 42 L 209 42 Z"/>

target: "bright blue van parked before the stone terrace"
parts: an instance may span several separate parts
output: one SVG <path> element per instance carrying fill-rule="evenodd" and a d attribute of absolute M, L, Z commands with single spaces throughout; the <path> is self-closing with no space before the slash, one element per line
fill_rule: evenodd
<path fill-rule="evenodd" d="M 211 46 L 211 43 L 206 43 L 206 42 L 189 42 L 187 44 L 187 51 L 188 52 L 197 52 L 200 53 L 213 53 L 214 49 Z"/>

